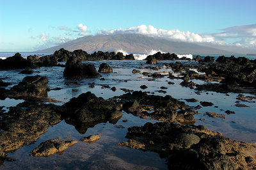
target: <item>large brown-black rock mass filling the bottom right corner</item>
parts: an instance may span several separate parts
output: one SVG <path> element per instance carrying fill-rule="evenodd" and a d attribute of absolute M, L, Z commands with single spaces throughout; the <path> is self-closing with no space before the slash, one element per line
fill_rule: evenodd
<path fill-rule="evenodd" d="M 118 145 L 154 151 L 166 158 L 169 169 L 253 169 L 256 147 L 221 136 L 206 127 L 175 123 L 146 123 L 128 128 L 127 142 Z M 246 162 L 250 157 L 251 163 Z"/>

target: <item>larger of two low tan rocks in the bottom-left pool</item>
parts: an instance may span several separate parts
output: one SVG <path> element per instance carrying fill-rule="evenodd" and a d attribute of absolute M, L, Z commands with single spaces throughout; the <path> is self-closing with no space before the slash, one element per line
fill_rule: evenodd
<path fill-rule="evenodd" d="M 76 144 L 78 141 L 59 141 L 58 139 L 50 139 L 42 142 L 35 149 L 31 151 L 31 157 L 49 157 L 54 153 L 63 153 L 67 150 L 68 146 Z"/>

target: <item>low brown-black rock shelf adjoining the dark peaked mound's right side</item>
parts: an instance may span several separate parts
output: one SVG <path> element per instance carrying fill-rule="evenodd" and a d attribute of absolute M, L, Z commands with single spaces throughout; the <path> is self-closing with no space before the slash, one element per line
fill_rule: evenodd
<path fill-rule="evenodd" d="M 188 124 L 193 124 L 196 121 L 193 116 L 195 111 L 189 110 L 188 105 L 169 95 L 161 97 L 147 95 L 147 92 L 134 91 L 132 94 L 126 93 L 117 98 L 123 104 L 124 111 L 134 116 L 150 116 L 156 120 L 178 121 Z M 179 112 L 178 109 L 180 109 Z"/>

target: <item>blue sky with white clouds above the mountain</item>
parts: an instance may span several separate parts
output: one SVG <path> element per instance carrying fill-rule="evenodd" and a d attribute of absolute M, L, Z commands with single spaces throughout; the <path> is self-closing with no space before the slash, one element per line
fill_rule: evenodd
<path fill-rule="evenodd" d="M 0 0 L 0 52 L 138 33 L 256 53 L 255 0 Z"/>

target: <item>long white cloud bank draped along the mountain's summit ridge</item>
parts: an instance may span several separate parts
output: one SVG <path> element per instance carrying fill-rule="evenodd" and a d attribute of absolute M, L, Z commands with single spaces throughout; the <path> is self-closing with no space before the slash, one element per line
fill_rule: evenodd
<path fill-rule="evenodd" d="M 211 35 L 202 36 L 196 33 L 191 33 L 189 31 L 182 32 L 179 29 L 157 29 L 154 26 L 137 26 L 128 27 L 126 29 L 102 29 L 99 31 L 98 35 L 117 35 L 117 34 L 141 34 L 148 36 L 157 36 L 161 38 L 168 38 L 171 40 L 179 40 L 184 42 L 214 42 L 214 37 Z"/>

